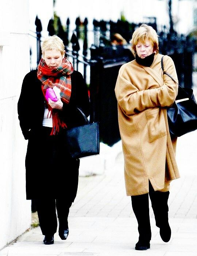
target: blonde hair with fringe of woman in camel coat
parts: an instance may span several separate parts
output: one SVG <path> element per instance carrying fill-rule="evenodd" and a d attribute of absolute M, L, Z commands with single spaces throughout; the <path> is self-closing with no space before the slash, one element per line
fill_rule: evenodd
<path fill-rule="evenodd" d="M 140 27 L 138 27 L 131 38 L 131 48 L 136 53 L 136 45 L 138 42 L 142 42 L 145 44 L 146 40 L 150 40 L 152 42 L 153 51 L 156 51 L 156 53 L 159 52 L 159 42 L 158 42 L 158 35 L 157 32 L 151 27 L 146 24 L 142 24 Z"/>

